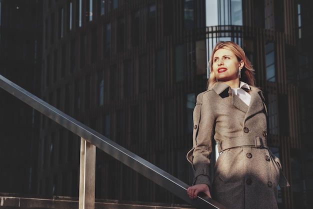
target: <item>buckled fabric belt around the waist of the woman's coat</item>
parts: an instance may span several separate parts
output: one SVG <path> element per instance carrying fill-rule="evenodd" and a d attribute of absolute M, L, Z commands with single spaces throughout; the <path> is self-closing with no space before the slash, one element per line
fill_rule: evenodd
<path fill-rule="evenodd" d="M 218 152 L 222 152 L 230 148 L 244 147 L 244 146 L 256 147 L 256 148 L 268 148 L 265 138 L 254 136 L 253 139 L 242 137 L 242 138 L 222 140 L 218 144 Z"/>

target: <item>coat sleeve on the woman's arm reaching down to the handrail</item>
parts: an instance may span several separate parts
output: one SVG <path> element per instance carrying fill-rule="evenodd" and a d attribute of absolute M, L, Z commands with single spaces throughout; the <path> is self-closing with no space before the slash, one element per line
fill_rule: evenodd
<path fill-rule="evenodd" d="M 215 118 L 207 93 L 197 95 L 193 109 L 193 146 L 187 153 L 194 173 L 193 184 L 205 183 L 210 187 L 209 164 Z"/>

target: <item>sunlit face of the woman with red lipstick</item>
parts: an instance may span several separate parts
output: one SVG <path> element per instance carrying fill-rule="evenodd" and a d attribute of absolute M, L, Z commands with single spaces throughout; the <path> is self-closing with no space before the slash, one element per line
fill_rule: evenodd
<path fill-rule="evenodd" d="M 212 69 L 215 77 L 221 81 L 239 79 L 238 69 L 243 67 L 243 61 L 238 61 L 235 54 L 225 48 L 215 51 L 212 60 Z"/>

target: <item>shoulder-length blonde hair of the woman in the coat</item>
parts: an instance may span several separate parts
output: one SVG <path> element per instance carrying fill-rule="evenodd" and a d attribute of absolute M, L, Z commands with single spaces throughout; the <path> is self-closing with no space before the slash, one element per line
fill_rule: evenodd
<path fill-rule="evenodd" d="M 207 89 L 212 88 L 217 82 L 216 77 L 213 73 L 212 64 L 213 64 L 214 53 L 215 53 L 215 51 L 217 51 L 220 48 L 224 48 L 224 49 L 232 51 L 236 55 L 238 61 L 241 61 L 241 60 L 243 61 L 243 68 L 241 69 L 240 80 L 251 85 L 251 86 L 255 86 L 255 84 L 254 84 L 255 83 L 255 78 L 254 78 L 254 71 L 255 70 L 253 69 L 252 64 L 249 61 L 249 59 L 245 56 L 243 49 L 238 44 L 236 44 L 235 42 L 219 41 L 216 43 L 215 47 L 213 48 L 210 60 L 208 62 L 210 74 L 209 74 L 209 78 L 207 80 L 207 85 L 206 85 Z"/>

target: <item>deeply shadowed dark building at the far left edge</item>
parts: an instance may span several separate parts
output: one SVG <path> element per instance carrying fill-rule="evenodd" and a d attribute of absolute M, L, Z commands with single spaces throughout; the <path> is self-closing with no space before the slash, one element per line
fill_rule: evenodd
<path fill-rule="evenodd" d="M 42 3 L 0 0 L 0 74 L 40 95 Z M 35 193 L 38 115 L 0 90 L 0 192 Z"/>

